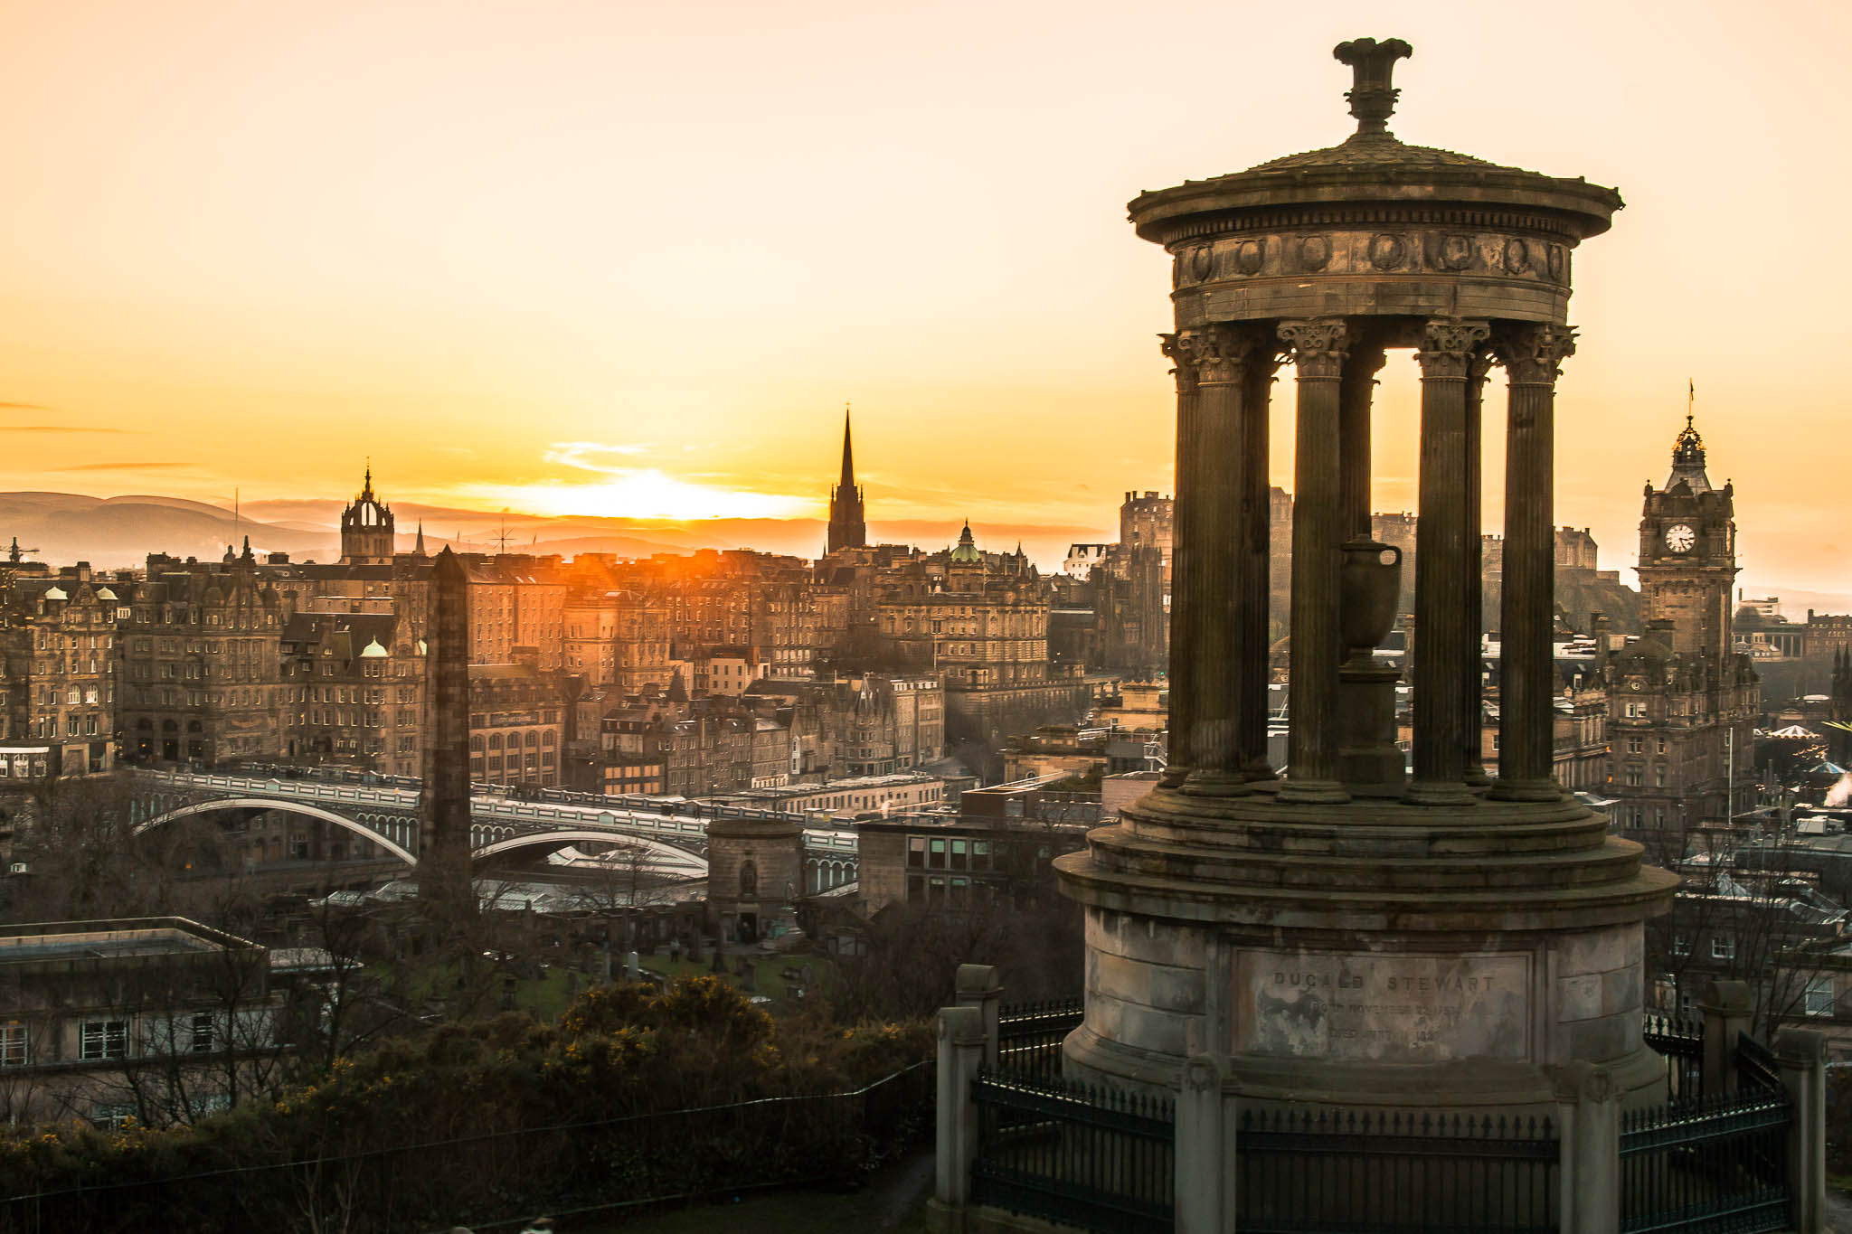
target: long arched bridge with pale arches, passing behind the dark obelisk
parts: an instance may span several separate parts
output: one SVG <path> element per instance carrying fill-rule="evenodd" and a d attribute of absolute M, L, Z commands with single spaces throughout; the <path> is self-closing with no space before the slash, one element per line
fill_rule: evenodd
<path fill-rule="evenodd" d="M 419 858 L 419 783 L 402 775 L 359 783 L 326 775 L 137 771 L 133 810 L 135 834 L 226 810 L 282 810 L 341 827 L 404 862 Z M 522 847 L 630 840 L 650 849 L 665 873 L 700 879 L 707 873 L 711 818 L 804 821 L 772 810 L 691 801 L 650 803 L 646 797 L 613 799 L 557 790 L 546 790 L 541 801 L 522 801 L 478 792 L 470 797 L 470 851 L 480 860 Z M 856 847 L 850 829 L 806 827 L 806 890 L 817 894 L 854 882 Z"/>

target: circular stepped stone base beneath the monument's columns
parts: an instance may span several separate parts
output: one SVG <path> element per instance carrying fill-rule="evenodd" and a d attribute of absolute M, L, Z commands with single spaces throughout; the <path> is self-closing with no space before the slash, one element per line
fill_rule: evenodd
<path fill-rule="evenodd" d="M 1420 807 L 1154 790 L 1056 862 L 1087 914 L 1069 1069 L 1245 1103 L 1543 1112 L 1556 1067 L 1663 1099 L 1641 1045 L 1643 923 L 1678 881 L 1558 796 Z"/>

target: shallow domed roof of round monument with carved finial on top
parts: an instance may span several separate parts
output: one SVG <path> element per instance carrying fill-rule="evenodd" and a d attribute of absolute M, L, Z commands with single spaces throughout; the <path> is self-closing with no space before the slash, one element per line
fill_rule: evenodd
<path fill-rule="evenodd" d="M 1606 231 L 1620 194 L 1582 178 L 1563 179 L 1502 167 L 1454 150 L 1411 146 L 1389 131 L 1400 89 L 1391 85 L 1395 61 L 1413 56 L 1402 39 L 1352 39 L 1333 56 L 1350 65 L 1354 85 L 1345 98 L 1358 131 L 1322 150 L 1287 154 L 1245 172 L 1185 179 L 1133 198 L 1132 220 L 1148 241 L 1163 242 L 1180 218 L 1232 215 L 1282 205 L 1396 202 L 1504 205 L 1550 211 L 1582 237 Z M 1200 233 L 1191 228 L 1191 233 Z"/>

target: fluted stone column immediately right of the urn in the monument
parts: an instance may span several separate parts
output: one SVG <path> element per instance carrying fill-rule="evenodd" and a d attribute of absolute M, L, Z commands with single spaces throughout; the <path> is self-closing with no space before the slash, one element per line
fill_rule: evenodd
<path fill-rule="evenodd" d="M 1467 805 L 1467 377 L 1485 322 L 1428 322 L 1420 364 L 1420 522 L 1415 527 L 1415 781 L 1409 801 Z"/>

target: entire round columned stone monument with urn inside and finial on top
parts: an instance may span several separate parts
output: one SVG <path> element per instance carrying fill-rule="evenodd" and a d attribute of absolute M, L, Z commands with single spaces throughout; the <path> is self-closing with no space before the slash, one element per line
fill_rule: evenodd
<path fill-rule="evenodd" d="M 1620 198 L 1387 130 L 1411 48 L 1359 39 L 1337 146 L 1130 204 L 1172 257 L 1176 559 L 1163 781 L 1059 858 L 1087 916 L 1067 1069 L 1245 1106 L 1550 1112 L 1569 1064 L 1663 1095 L 1641 936 L 1676 879 L 1552 779 L 1552 420 L 1570 255 Z M 1413 764 L 1372 649 L 1400 555 L 1370 540 L 1370 400 L 1420 368 Z M 1267 762 L 1267 403 L 1293 366 L 1289 755 Z M 1482 389 L 1504 368 L 1498 777 L 1480 766 Z M 1230 1103 L 1232 1108 L 1232 1103 Z"/>

